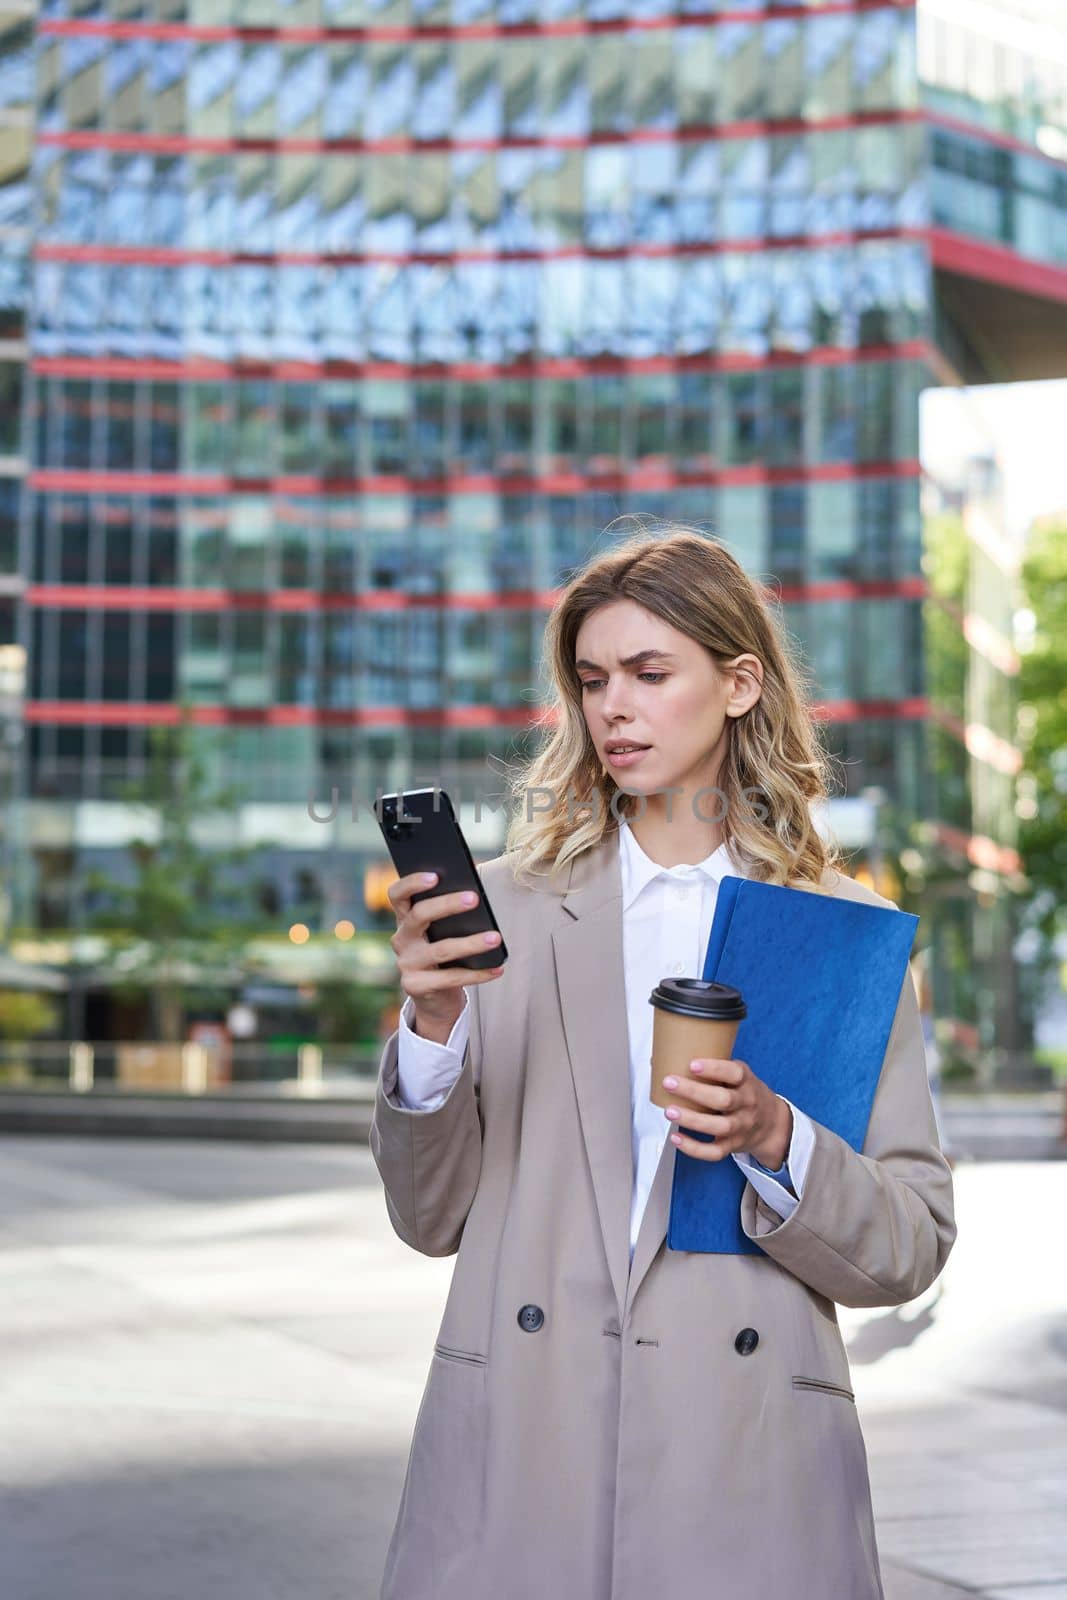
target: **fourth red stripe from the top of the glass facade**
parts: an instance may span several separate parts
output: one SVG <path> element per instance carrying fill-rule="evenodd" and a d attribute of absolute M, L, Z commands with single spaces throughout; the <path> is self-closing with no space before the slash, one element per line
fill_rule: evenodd
<path fill-rule="evenodd" d="M 507 366 L 491 362 L 450 362 L 419 365 L 411 362 L 210 362 L 192 357 L 189 362 L 139 360 L 125 355 L 37 355 L 30 370 L 43 378 L 136 378 L 158 382 L 226 382 L 250 378 L 275 378 L 285 382 L 323 382 L 331 378 L 366 378 L 381 381 L 408 381 L 411 378 L 450 378 L 482 381 L 493 378 L 589 378 L 603 373 L 731 373 L 763 371 L 766 368 L 793 366 L 854 366 L 861 362 L 926 362 L 933 363 L 937 350 L 926 339 L 909 339 L 904 344 L 869 344 L 848 350 L 835 346 L 817 346 L 813 350 L 773 350 L 769 355 L 749 355 L 744 350 L 726 350 L 720 355 L 597 355 L 577 360 L 574 357 L 545 357 L 512 362 Z"/>

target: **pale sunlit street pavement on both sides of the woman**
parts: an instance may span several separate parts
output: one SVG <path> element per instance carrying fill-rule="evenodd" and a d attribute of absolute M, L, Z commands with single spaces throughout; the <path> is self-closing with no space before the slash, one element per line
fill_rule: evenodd
<path fill-rule="evenodd" d="M 955 1179 L 841 1310 L 886 1600 L 1067 1600 L 1067 1163 Z M 366 1146 L 0 1138 L 3 1600 L 376 1600 L 453 1264 Z"/>

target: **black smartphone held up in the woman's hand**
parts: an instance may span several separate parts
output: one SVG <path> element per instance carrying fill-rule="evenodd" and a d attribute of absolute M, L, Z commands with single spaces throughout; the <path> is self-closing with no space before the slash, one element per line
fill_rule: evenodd
<path fill-rule="evenodd" d="M 378 826 L 386 838 L 392 862 L 402 878 L 411 872 L 437 872 L 437 883 L 411 896 L 411 904 L 434 894 L 458 894 L 474 890 L 478 904 L 470 910 L 458 910 L 427 923 L 426 936 L 437 939 L 469 939 L 475 933 L 501 928 L 493 915 L 488 896 L 462 835 L 453 803 L 443 789 L 405 789 L 400 794 L 382 795 L 374 805 Z M 501 942 L 491 950 L 464 955 L 458 962 L 442 962 L 442 966 L 502 966 L 507 946 Z"/>

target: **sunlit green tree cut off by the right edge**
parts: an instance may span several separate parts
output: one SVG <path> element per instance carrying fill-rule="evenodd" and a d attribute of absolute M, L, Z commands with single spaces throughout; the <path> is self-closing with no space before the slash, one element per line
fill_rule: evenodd
<path fill-rule="evenodd" d="M 1067 520 L 1032 533 L 1022 586 L 1033 638 L 1019 672 L 1019 846 L 1033 890 L 1029 922 L 1049 952 L 1067 926 Z"/>

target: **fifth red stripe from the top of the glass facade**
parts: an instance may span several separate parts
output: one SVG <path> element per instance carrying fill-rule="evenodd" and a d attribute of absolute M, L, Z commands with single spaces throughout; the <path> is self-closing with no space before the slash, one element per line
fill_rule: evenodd
<path fill-rule="evenodd" d="M 451 478 L 368 477 L 368 478 L 232 478 L 221 474 L 179 472 L 93 472 L 43 467 L 27 475 L 37 493 L 54 494 L 285 494 L 338 499 L 352 494 L 584 494 L 619 490 L 669 490 L 734 485 L 837 483 L 851 478 L 918 478 L 918 459 L 905 461 L 825 461 L 795 467 L 721 467 L 712 472 L 590 474 L 552 472 L 544 477 L 499 477 L 478 474 Z"/>

